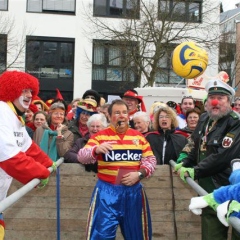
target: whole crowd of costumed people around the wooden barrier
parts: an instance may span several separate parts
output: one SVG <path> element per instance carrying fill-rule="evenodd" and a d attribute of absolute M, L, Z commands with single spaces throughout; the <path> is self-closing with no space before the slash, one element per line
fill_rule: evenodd
<path fill-rule="evenodd" d="M 0 76 L 0 85 L 0 142 L 5 149 L 0 154 L 0 176 L 6 183 L 0 200 L 6 197 L 12 177 L 24 184 L 37 177 L 45 186 L 46 168 L 55 167 L 59 157 L 65 163 L 83 164 L 98 175 L 88 239 L 114 239 L 118 225 L 125 239 L 151 239 L 141 180 L 154 173 L 156 164 L 176 161 L 174 171 L 183 181 L 198 180 L 210 194 L 230 185 L 231 160 L 240 157 L 240 100 L 234 101 L 234 89 L 219 79 L 207 83 L 202 107 L 192 96 L 184 96 L 181 103 L 155 102 L 151 109 L 133 89 L 111 103 L 89 89 L 70 104 L 59 94 L 49 104 L 38 97 L 38 80 L 27 73 L 7 71 Z M 26 164 L 31 167 L 25 169 Z M 231 211 L 238 214 L 240 199 L 230 198 L 224 200 L 235 200 Z M 203 208 L 202 238 L 227 239 L 228 228 L 214 208 L 202 202 L 206 200 L 193 199 L 190 204 L 193 213 Z M 240 239 L 236 231 L 232 234 Z"/>

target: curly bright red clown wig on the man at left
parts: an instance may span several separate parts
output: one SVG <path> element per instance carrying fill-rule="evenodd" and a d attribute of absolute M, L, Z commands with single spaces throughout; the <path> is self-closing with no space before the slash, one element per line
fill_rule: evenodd
<path fill-rule="evenodd" d="M 1 101 L 14 101 L 21 96 L 24 89 L 31 89 L 32 96 L 36 96 L 39 92 L 38 79 L 20 71 L 6 71 L 0 76 Z"/>

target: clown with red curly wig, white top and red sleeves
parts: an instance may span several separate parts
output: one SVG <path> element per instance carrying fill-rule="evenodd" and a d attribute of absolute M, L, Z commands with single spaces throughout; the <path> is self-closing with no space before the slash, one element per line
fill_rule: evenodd
<path fill-rule="evenodd" d="M 6 71 L 0 76 L 0 201 L 12 178 L 22 184 L 34 178 L 48 182 L 53 161 L 29 137 L 23 119 L 38 91 L 38 79 L 30 74 Z"/>

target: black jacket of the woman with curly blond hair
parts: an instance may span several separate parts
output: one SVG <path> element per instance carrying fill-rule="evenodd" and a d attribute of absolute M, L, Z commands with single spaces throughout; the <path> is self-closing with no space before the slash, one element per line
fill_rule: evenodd
<path fill-rule="evenodd" d="M 174 129 L 167 130 L 165 133 L 159 128 L 158 132 L 146 134 L 153 154 L 157 159 L 157 164 L 169 164 L 170 160 L 176 161 L 183 147 L 187 144 L 187 139 L 181 134 L 177 134 Z M 163 143 L 166 140 L 166 150 L 164 161 L 162 159 Z"/>

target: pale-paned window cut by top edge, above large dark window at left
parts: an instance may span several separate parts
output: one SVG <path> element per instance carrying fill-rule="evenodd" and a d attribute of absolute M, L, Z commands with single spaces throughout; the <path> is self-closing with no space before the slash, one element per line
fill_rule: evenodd
<path fill-rule="evenodd" d="M 28 0 L 28 12 L 75 13 L 76 0 Z"/>

